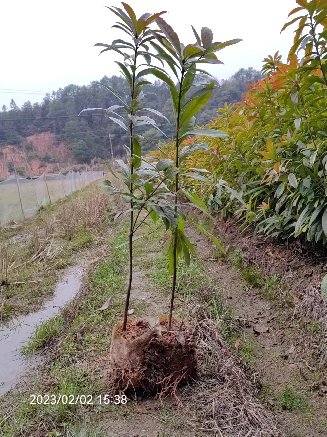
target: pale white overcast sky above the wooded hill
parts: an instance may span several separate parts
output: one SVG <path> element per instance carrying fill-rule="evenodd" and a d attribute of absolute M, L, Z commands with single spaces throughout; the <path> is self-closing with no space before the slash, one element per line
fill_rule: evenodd
<path fill-rule="evenodd" d="M 287 29 L 279 35 L 295 0 L 126 0 L 139 17 L 144 12 L 167 10 L 164 19 L 185 45 L 194 42 L 191 25 L 200 33 L 211 28 L 214 41 L 242 38 L 237 45 L 217 53 L 225 65 L 208 70 L 226 79 L 242 67 L 261 69 L 262 59 L 277 50 L 286 62 L 293 35 Z M 120 6 L 110 0 L 16 0 L 2 1 L 0 14 L 0 108 L 11 98 L 42 101 L 43 95 L 27 91 L 52 92 L 69 83 L 84 85 L 111 76 L 118 70 L 113 52 L 98 56 L 96 42 L 110 44 L 125 38 L 111 29 L 115 15 L 106 6 Z M 118 20 L 118 17 L 116 17 Z M 123 35 L 122 35 L 123 34 Z M 126 35 L 127 37 L 127 35 Z M 118 55 L 119 56 L 119 55 Z"/>

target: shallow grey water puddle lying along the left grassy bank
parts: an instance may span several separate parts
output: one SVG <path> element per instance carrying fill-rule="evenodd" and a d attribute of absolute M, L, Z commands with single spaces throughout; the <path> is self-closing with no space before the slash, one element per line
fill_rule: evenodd
<path fill-rule="evenodd" d="M 34 326 L 41 320 L 51 319 L 78 291 L 83 268 L 75 266 L 57 283 L 54 298 L 43 309 L 27 316 L 17 317 L 0 327 L 0 395 L 10 390 L 14 379 L 27 368 L 30 360 L 20 355 L 20 347 L 31 336 Z"/>

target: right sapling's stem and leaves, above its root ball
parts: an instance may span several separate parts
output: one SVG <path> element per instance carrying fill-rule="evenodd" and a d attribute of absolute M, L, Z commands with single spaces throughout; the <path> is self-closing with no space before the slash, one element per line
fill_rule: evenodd
<path fill-rule="evenodd" d="M 180 187 L 178 182 L 179 174 L 183 174 L 187 177 L 186 170 L 181 167 L 181 163 L 189 156 L 194 150 L 210 150 L 208 143 L 203 142 L 201 144 L 194 144 L 191 146 L 185 146 L 180 149 L 182 142 L 190 135 L 201 135 L 218 138 L 225 136 L 224 132 L 215 129 L 194 129 L 195 126 L 195 114 L 203 108 L 208 102 L 211 93 L 216 85 L 215 78 L 203 69 L 198 68 L 197 63 L 211 63 L 222 64 L 215 52 L 223 49 L 228 45 L 235 44 L 240 39 L 233 39 L 227 42 L 212 42 L 213 35 L 209 28 L 203 27 L 201 29 L 201 38 L 192 26 L 196 42 L 194 44 L 188 44 L 184 46 L 180 43 L 180 40 L 176 32 L 166 23 L 161 17 L 156 18 L 160 31 L 150 31 L 151 34 L 160 42 L 158 45 L 156 42 L 150 41 L 150 44 L 157 51 L 157 56 L 167 62 L 170 69 L 176 76 L 174 80 L 161 69 L 157 69 L 156 72 L 151 71 L 155 76 L 167 83 L 170 88 L 170 95 L 173 106 L 174 125 L 175 125 L 175 162 L 174 166 L 177 169 L 174 181 L 174 205 L 177 212 L 177 201 L 180 191 L 184 192 L 187 198 L 191 201 L 191 204 L 199 208 L 202 212 L 209 215 L 208 208 L 204 202 L 195 194 L 187 189 L 187 186 Z M 163 35 L 162 35 L 163 34 Z M 198 76 L 202 79 L 202 82 L 196 82 L 194 84 L 195 77 Z M 175 85 L 177 80 L 177 85 Z M 193 92 L 192 87 L 196 86 L 198 89 Z M 196 171 L 195 169 L 192 169 Z M 201 171 L 201 170 L 199 170 Z M 188 173 L 190 175 L 190 173 Z M 194 179 L 204 180 L 201 175 L 191 173 L 191 177 Z M 209 181 L 210 183 L 210 181 Z M 190 263 L 191 253 L 195 254 L 194 248 L 190 241 L 187 239 L 184 233 L 184 217 L 179 215 L 178 223 L 170 225 L 170 240 L 168 242 L 168 254 L 169 254 L 169 266 L 170 272 L 173 274 L 173 284 L 170 300 L 170 312 L 168 319 L 168 330 L 171 329 L 171 319 L 174 308 L 174 296 L 176 289 L 176 271 L 177 271 L 177 259 L 183 257 L 187 264 Z M 209 236 L 216 246 L 221 251 L 224 251 L 218 239 L 212 236 L 199 224 L 195 225 Z"/>

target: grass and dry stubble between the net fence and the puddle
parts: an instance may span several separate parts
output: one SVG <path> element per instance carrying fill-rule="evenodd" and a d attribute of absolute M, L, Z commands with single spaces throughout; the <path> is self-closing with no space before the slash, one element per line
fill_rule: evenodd
<path fill-rule="evenodd" d="M 15 239 L 0 243 L 1 264 L 7 266 L 0 272 L 7 278 L 0 298 L 0 320 L 39 309 L 53 292 L 58 270 L 73 262 L 74 253 L 99 242 L 108 215 L 108 197 L 91 184 L 46 206 L 20 226 Z"/>

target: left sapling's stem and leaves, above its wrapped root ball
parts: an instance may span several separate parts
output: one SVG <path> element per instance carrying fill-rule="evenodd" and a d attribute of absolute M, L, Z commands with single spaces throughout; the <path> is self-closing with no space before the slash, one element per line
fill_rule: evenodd
<path fill-rule="evenodd" d="M 109 7 L 109 9 L 121 20 L 112 27 L 118 28 L 125 32 L 130 37 L 131 41 L 116 39 L 111 45 L 97 43 L 95 46 L 104 47 L 102 52 L 113 50 L 124 58 L 124 62 L 116 63 L 119 65 L 121 73 L 129 85 L 130 101 L 127 102 L 125 98 L 122 97 L 116 90 L 112 89 L 112 87 L 102 85 L 112 94 L 114 94 L 121 104 L 112 105 L 107 109 L 87 108 L 83 111 L 103 109 L 106 111 L 106 118 L 117 123 L 121 128 L 123 128 L 129 134 L 130 139 L 129 146 L 124 146 L 126 149 L 128 163 L 124 163 L 123 160 L 116 161 L 120 167 L 118 175 L 112 170 L 109 163 L 107 164 L 112 176 L 119 179 L 124 185 L 124 188 L 121 189 L 120 187 L 113 186 L 109 180 L 106 180 L 102 183 L 103 186 L 107 187 L 108 191 L 121 194 L 124 201 L 129 204 L 128 209 L 119 212 L 115 217 L 118 218 L 122 214 L 129 214 L 128 241 L 118 246 L 121 247 L 124 244 L 128 244 L 129 246 L 129 277 L 122 328 L 123 331 L 125 331 L 133 278 L 133 241 L 135 239 L 142 238 L 142 236 L 134 237 L 135 232 L 141 225 L 146 223 L 146 218 L 149 215 L 154 222 L 157 222 L 161 216 L 164 220 L 166 228 L 168 228 L 170 224 L 177 223 L 177 215 L 179 212 L 170 204 L 169 201 L 167 201 L 167 197 L 170 195 L 170 192 L 168 191 L 165 183 L 169 182 L 171 177 L 173 177 L 175 174 L 174 170 L 172 169 L 166 171 L 170 162 L 168 161 L 167 165 L 165 160 L 161 160 L 160 163 L 157 163 L 157 166 L 155 166 L 153 163 L 149 162 L 149 159 L 143 159 L 141 156 L 141 147 L 139 142 L 139 138 L 142 137 L 142 135 L 136 134 L 135 132 L 135 128 L 146 124 L 150 124 L 154 128 L 160 130 L 152 118 L 146 115 L 139 115 L 141 111 L 146 111 L 146 113 L 152 112 L 157 116 L 164 118 L 168 122 L 167 118 L 164 117 L 164 115 L 160 112 L 152 108 L 143 108 L 143 85 L 150 83 L 146 80 L 143 80 L 143 76 L 149 74 L 151 69 L 146 68 L 141 71 L 139 70 L 140 66 L 146 65 L 149 67 L 151 65 L 152 58 L 156 58 L 162 62 L 162 60 L 156 54 L 149 52 L 149 46 L 146 44 L 146 42 L 149 42 L 155 38 L 150 33 L 150 23 L 152 23 L 161 14 L 164 14 L 164 11 L 153 15 L 146 13 L 137 20 L 133 9 L 126 3 L 122 2 L 122 4 L 126 12 L 118 7 Z M 142 59 L 143 62 L 145 60 L 146 64 L 142 63 L 142 61 L 138 62 L 139 59 Z M 125 116 L 117 113 L 116 111 L 124 111 Z M 160 130 L 160 132 L 162 131 Z M 147 180 L 143 179 L 144 176 L 147 177 Z M 146 215 L 143 214 L 143 211 L 146 212 Z"/>

